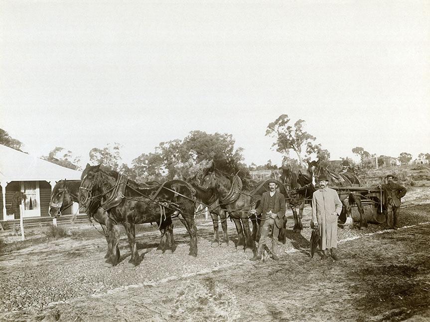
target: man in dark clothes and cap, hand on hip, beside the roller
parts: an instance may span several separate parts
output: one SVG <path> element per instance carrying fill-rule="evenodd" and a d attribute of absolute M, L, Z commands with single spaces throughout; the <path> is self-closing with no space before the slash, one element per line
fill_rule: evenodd
<path fill-rule="evenodd" d="M 388 229 L 397 229 L 400 214 L 400 198 L 406 195 L 406 188 L 394 182 L 394 175 L 386 176 L 387 183 L 382 185 L 384 190 L 384 204 L 387 209 L 387 225 Z"/>

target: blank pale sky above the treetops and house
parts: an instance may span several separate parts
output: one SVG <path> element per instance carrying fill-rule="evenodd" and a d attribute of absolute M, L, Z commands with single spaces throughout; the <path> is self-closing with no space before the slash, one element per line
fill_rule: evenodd
<path fill-rule="evenodd" d="M 201 130 L 280 165 L 281 114 L 331 159 L 430 153 L 430 1 L 0 1 L 0 128 L 31 154 Z"/>

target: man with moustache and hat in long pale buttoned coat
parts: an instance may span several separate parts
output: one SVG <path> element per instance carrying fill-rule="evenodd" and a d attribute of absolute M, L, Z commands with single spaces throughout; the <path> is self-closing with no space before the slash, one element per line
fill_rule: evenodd
<path fill-rule="evenodd" d="M 337 218 L 342 211 L 342 202 L 336 190 L 327 188 L 328 179 L 325 175 L 318 178 L 319 189 L 312 195 L 312 223 L 319 229 L 319 248 L 328 258 L 328 250 L 331 249 L 331 257 L 337 260 Z"/>

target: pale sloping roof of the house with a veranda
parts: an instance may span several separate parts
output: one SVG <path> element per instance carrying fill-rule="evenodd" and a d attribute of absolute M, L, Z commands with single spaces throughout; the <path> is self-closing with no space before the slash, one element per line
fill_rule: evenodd
<path fill-rule="evenodd" d="M 59 166 L 0 144 L 0 180 L 80 180 L 81 172 Z"/>

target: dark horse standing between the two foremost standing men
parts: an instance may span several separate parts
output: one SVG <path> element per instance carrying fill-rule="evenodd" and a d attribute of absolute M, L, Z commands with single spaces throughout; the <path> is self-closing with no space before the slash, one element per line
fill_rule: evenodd
<path fill-rule="evenodd" d="M 294 217 L 293 231 L 300 234 L 303 230 L 301 220 L 304 206 L 310 204 L 312 193 L 315 191 L 311 185 L 311 178 L 300 170 L 295 172 L 290 166 L 287 166 L 283 168 L 280 180 L 286 188 L 286 200 Z"/>

